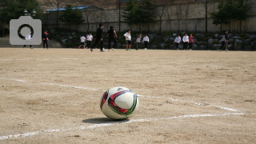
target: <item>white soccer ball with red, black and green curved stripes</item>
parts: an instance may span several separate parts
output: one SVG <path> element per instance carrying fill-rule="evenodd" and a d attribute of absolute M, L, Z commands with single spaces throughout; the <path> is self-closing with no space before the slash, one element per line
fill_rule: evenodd
<path fill-rule="evenodd" d="M 138 98 L 134 91 L 126 87 L 113 87 L 102 95 L 100 107 L 106 117 L 124 120 L 138 110 Z"/>

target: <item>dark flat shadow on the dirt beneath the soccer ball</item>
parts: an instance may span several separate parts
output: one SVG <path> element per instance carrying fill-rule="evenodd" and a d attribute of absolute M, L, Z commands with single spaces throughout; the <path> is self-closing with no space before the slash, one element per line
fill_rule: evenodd
<path fill-rule="evenodd" d="M 126 120 L 114 120 L 110 118 L 89 118 L 89 119 L 84 119 L 82 122 L 85 123 L 94 123 L 94 124 L 102 124 L 102 123 L 123 123 L 123 122 L 129 122 L 129 119 Z"/>

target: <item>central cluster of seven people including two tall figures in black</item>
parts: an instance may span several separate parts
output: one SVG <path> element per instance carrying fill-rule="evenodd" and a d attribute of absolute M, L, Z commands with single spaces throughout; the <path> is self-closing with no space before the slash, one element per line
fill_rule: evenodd
<path fill-rule="evenodd" d="M 93 52 L 94 50 L 94 46 L 96 45 L 100 45 L 100 52 L 105 52 L 103 50 L 103 27 L 104 25 L 99 24 L 99 27 L 96 31 L 96 40 L 94 42 L 94 45 L 90 47 L 90 42 L 92 42 L 93 40 L 93 36 L 91 34 L 87 35 L 85 37 L 85 35 L 82 35 L 81 39 L 81 44 L 80 46 L 78 46 L 78 49 L 80 49 L 81 46 L 83 46 L 84 49 L 86 48 L 90 48 L 90 51 Z M 108 50 L 114 50 L 115 46 L 116 46 L 116 38 L 118 37 L 116 31 L 114 30 L 114 26 L 110 26 L 110 30 L 108 30 L 107 32 L 109 41 L 108 41 Z M 123 35 L 126 38 L 126 50 L 131 50 L 131 34 L 130 34 L 130 30 L 127 30 L 126 34 Z M 111 47 L 111 42 L 114 42 L 114 45 Z M 136 38 L 136 50 L 138 50 L 139 46 L 141 43 L 144 43 L 145 46 L 145 50 L 147 50 L 147 45 L 150 42 L 150 38 L 147 36 L 147 34 L 145 34 L 145 37 L 142 38 L 142 34 L 138 34 L 138 37 Z"/>

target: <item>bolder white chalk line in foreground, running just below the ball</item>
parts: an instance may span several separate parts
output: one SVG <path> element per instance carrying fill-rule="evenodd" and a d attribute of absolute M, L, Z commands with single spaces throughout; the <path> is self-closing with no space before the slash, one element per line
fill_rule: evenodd
<path fill-rule="evenodd" d="M 119 124 L 119 123 L 150 122 L 150 121 L 160 121 L 160 120 L 169 120 L 169 119 L 178 119 L 178 118 L 218 117 L 218 116 L 227 116 L 227 115 L 243 115 L 243 113 L 191 114 L 191 115 L 180 115 L 180 116 L 173 116 L 173 117 L 166 117 L 166 118 L 131 119 L 131 120 L 124 120 L 124 121 L 116 121 L 116 122 L 106 122 L 106 123 L 94 124 L 94 125 L 90 125 L 90 126 L 79 126 L 79 127 L 70 128 L 70 129 L 41 130 L 41 131 L 28 132 L 28 133 L 24 133 L 24 134 L 6 135 L 6 136 L 0 137 L 0 140 L 11 139 L 11 138 L 26 138 L 26 137 L 34 136 L 34 135 L 37 135 L 37 134 L 54 133 L 54 132 L 65 132 L 65 131 L 70 131 L 70 130 L 90 130 L 90 129 L 94 129 L 94 128 L 97 128 L 97 127 L 111 126 L 111 125 Z"/>

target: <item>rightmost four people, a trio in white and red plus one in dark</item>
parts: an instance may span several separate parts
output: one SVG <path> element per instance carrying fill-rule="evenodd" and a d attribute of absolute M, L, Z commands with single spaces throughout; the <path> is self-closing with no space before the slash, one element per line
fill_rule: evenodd
<path fill-rule="evenodd" d="M 226 51 L 228 50 L 228 45 L 227 42 L 229 42 L 228 37 L 227 37 L 228 31 L 225 30 L 224 31 L 224 35 L 222 36 L 222 39 L 220 40 L 222 42 L 222 46 L 220 46 L 218 48 L 218 51 L 222 50 L 222 47 L 225 46 Z M 174 43 L 175 46 L 177 48 L 177 50 L 179 50 L 179 43 L 183 42 L 183 50 L 188 50 L 187 47 L 189 46 L 189 49 L 192 50 L 193 44 L 194 44 L 194 36 L 192 34 L 190 34 L 190 36 L 188 36 L 187 34 L 184 34 L 183 38 L 181 38 L 179 35 L 175 38 Z"/>

